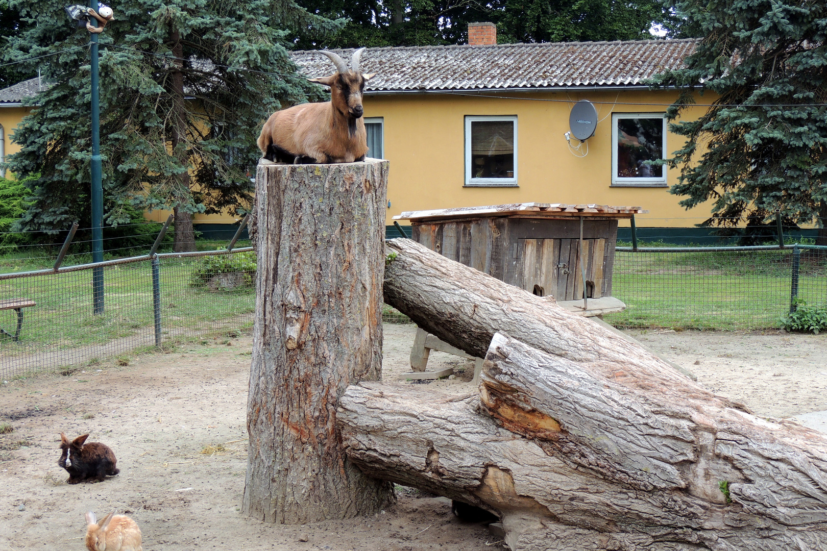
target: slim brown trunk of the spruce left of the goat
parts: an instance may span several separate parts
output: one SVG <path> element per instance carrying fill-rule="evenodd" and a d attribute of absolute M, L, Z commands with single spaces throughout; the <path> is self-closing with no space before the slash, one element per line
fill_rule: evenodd
<path fill-rule="evenodd" d="M 172 64 L 176 68 L 170 74 L 172 82 L 172 129 L 170 141 L 172 154 L 181 166 L 187 167 L 178 175 L 178 189 L 175 190 L 173 212 L 175 215 L 175 235 L 172 249 L 176 253 L 189 253 L 195 250 L 195 230 L 193 216 L 182 209 L 182 206 L 192 202 L 189 190 L 189 156 L 187 151 L 187 106 L 184 98 L 184 45 L 181 44 L 181 35 L 178 30 L 170 33 L 172 45 Z"/>

